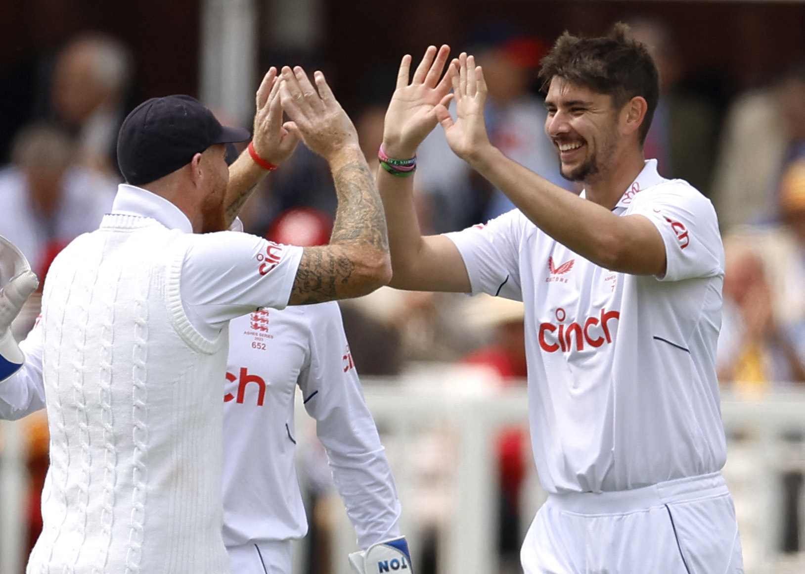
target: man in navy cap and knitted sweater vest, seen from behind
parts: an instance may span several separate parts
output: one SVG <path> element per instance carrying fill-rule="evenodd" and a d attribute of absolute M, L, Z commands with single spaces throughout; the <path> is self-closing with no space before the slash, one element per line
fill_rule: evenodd
<path fill-rule="evenodd" d="M 146 101 L 123 122 L 126 183 L 112 213 L 59 254 L 43 291 L 51 467 L 27 572 L 229 572 L 221 539 L 229 320 L 363 295 L 390 279 L 374 178 L 320 72 L 312 83 L 301 68 L 271 68 L 254 139 L 228 168 L 225 144 L 248 138 L 187 96 Z M 330 244 L 223 231 L 300 138 L 332 170 L 339 213 Z"/>

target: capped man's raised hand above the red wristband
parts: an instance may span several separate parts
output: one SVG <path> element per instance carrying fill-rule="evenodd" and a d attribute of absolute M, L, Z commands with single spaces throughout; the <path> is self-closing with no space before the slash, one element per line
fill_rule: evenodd
<path fill-rule="evenodd" d="M 299 143 L 297 134 L 283 127 L 283 107 L 279 98 L 277 68 L 269 68 L 263 76 L 255 98 L 254 151 L 268 163 L 279 165 L 293 153 Z"/>

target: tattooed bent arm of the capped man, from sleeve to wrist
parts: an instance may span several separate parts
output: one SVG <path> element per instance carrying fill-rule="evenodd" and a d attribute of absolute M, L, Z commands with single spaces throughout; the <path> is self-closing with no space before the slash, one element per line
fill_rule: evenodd
<path fill-rule="evenodd" d="M 361 255 L 388 254 L 386 217 L 374 177 L 365 162 L 352 162 L 333 174 L 338 194 L 336 221 L 329 246 L 304 250 L 291 302 L 320 303 L 356 296 L 361 282 Z"/>

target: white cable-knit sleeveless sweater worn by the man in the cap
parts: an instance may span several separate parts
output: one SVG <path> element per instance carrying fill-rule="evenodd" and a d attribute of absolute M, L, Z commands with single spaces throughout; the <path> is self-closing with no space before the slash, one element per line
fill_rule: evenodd
<path fill-rule="evenodd" d="M 39 572 L 218 574 L 228 333 L 180 299 L 194 236 L 108 215 L 53 263 L 43 294 L 51 466 Z"/>

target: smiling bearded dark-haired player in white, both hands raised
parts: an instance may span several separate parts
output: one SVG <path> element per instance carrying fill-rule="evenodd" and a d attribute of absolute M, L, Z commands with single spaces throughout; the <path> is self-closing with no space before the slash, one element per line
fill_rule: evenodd
<path fill-rule="evenodd" d="M 531 443 L 548 493 L 522 544 L 526 574 L 743 572 L 720 473 L 718 222 L 700 192 L 643 157 L 658 74 L 625 32 L 565 33 L 542 60 L 545 130 L 580 196 L 490 144 L 473 56 L 441 80 L 447 46 L 428 48 L 411 78 L 403 58 L 378 170 L 390 285 L 525 304 Z M 437 121 L 517 209 L 421 236 L 410 176 Z"/>

